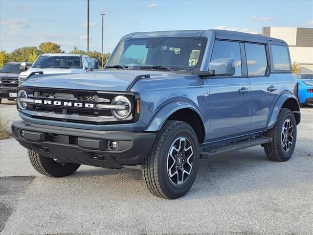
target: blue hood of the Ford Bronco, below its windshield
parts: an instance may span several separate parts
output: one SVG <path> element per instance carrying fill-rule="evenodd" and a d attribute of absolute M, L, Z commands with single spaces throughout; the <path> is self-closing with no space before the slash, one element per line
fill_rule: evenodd
<path fill-rule="evenodd" d="M 168 71 L 109 70 L 92 71 L 79 74 L 34 75 L 23 86 L 61 88 L 93 91 L 126 91 L 138 75 L 149 74 L 150 77 L 174 76 Z"/>

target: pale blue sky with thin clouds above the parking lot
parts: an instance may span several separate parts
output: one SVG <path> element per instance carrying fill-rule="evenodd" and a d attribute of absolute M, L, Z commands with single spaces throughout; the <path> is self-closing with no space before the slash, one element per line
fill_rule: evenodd
<path fill-rule="evenodd" d="M 104 52 L 131 32 L 228 29 L 262 32 L 264 26 L 313 27 L 313 0 L 110 1 L 90 0 L 89 50 Z M 66 52 L 87 50 L 87 0 L 0 0 L 0 47 L 54 42 Z"/>

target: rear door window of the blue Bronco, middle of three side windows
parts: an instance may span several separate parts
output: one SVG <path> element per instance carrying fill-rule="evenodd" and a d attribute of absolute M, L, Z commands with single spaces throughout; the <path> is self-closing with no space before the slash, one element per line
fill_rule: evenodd
<path fill-rule="evenodd" d="M 264 45 L 245 43 L 248 76 L 264 76 L 268 66 Z"/>

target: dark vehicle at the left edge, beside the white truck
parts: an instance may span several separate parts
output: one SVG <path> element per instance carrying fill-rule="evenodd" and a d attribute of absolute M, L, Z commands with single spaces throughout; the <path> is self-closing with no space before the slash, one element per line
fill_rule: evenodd
<path fill-rule="evenodd" d="M 0 71 L 0 103 L 3 98 L 14 100 L 19 86 L 21 62 L 6 63 Z"/>

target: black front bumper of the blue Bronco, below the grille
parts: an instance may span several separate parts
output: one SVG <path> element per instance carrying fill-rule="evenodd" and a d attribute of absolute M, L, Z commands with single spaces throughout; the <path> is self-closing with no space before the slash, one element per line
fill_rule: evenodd
<path fill-rule="evenodd" d="M 155 133 L 91 131 L 22 120 L 13 122 L 12 133 L 22 146 L 42 156 L 118 169 L 123 165 L 141 164 L 156 139 Z M 117 149 L 110 147 L 111 141 L 117 142 Z"/>

